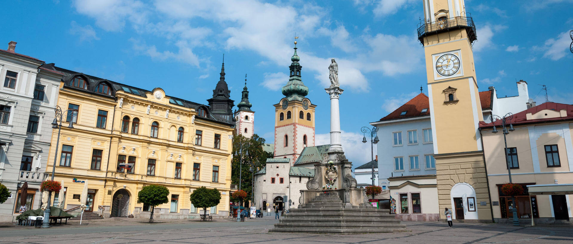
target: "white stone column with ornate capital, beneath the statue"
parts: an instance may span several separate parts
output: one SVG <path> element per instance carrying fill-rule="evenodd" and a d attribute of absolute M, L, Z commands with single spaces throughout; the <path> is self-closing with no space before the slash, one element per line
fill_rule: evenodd
<path fill-rule="evenodd" d="M 330 95 L 330 147 L 328 153 L 344 153 L 340 144 L 340 110 L 338 99 L 344 90 L 340 87 L 329 87 L 326 93 Z"/>

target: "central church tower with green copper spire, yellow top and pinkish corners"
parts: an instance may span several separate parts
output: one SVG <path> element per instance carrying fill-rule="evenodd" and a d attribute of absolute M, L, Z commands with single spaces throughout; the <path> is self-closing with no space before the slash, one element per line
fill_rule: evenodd
<path fill-rule="evenodd" d="M 290 158 L 294 163 L 304 147 L 315 145 L 316 105 L 306 98 L 308 87 L 301 79 L 300 57 L 291 57 L 290 78 L 282 87 L 284 98 L 274 105 L 274 158 Z"/>

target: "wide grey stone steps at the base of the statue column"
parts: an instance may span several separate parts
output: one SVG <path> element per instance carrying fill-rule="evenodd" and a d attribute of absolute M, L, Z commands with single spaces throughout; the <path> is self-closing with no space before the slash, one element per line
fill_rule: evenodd
<path fill-rule="evenodd" d="M 299 233 L 386 233 L 404 232 L 406 225 L 395 219 L 389 210 L 368 206 L 347 206 L 336 193 L 320 193 L 309 203 L 289 213 L 269 232 Z"/>

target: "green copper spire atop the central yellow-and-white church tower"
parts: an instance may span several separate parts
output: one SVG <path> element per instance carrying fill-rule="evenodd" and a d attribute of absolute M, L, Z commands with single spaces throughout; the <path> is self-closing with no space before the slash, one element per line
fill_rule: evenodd
<path fill-rule="evenodd" d="M 299 37 L 295 37 L 298 39 Z M 299 100 L 303 101 L 305 95 L 308 95 L 308 87 L 304 85 L 303 79 L 300 75 L 300 70 L 303 69 L 303 66 L 300 65 L 300 57 L 296 53 L 296 41 L 295 41 L 295 54 L 291 57 L 291 66 L 289 69 L 291 70 L 290 78 L 288 79 L 288 83 L 286 86 L 282 87 L 282 94 L 289 99 L 289 101 Z"/>

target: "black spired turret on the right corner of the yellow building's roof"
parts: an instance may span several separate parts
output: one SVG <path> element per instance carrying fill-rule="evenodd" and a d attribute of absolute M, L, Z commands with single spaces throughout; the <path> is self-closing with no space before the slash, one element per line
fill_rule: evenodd
<path fill-rule="evenodd" d="M 207 99 L 209 102 L 209 111 L 213 115 L 217 115 L 225 119 L 229 123 L 233 123 L 233 106 L 234 101 L 230 99 L 231 91 L 225 82 L 225 62 L 221 65 L 221 77 L 215 90 L 213 90 L 213 98 Z"/>

